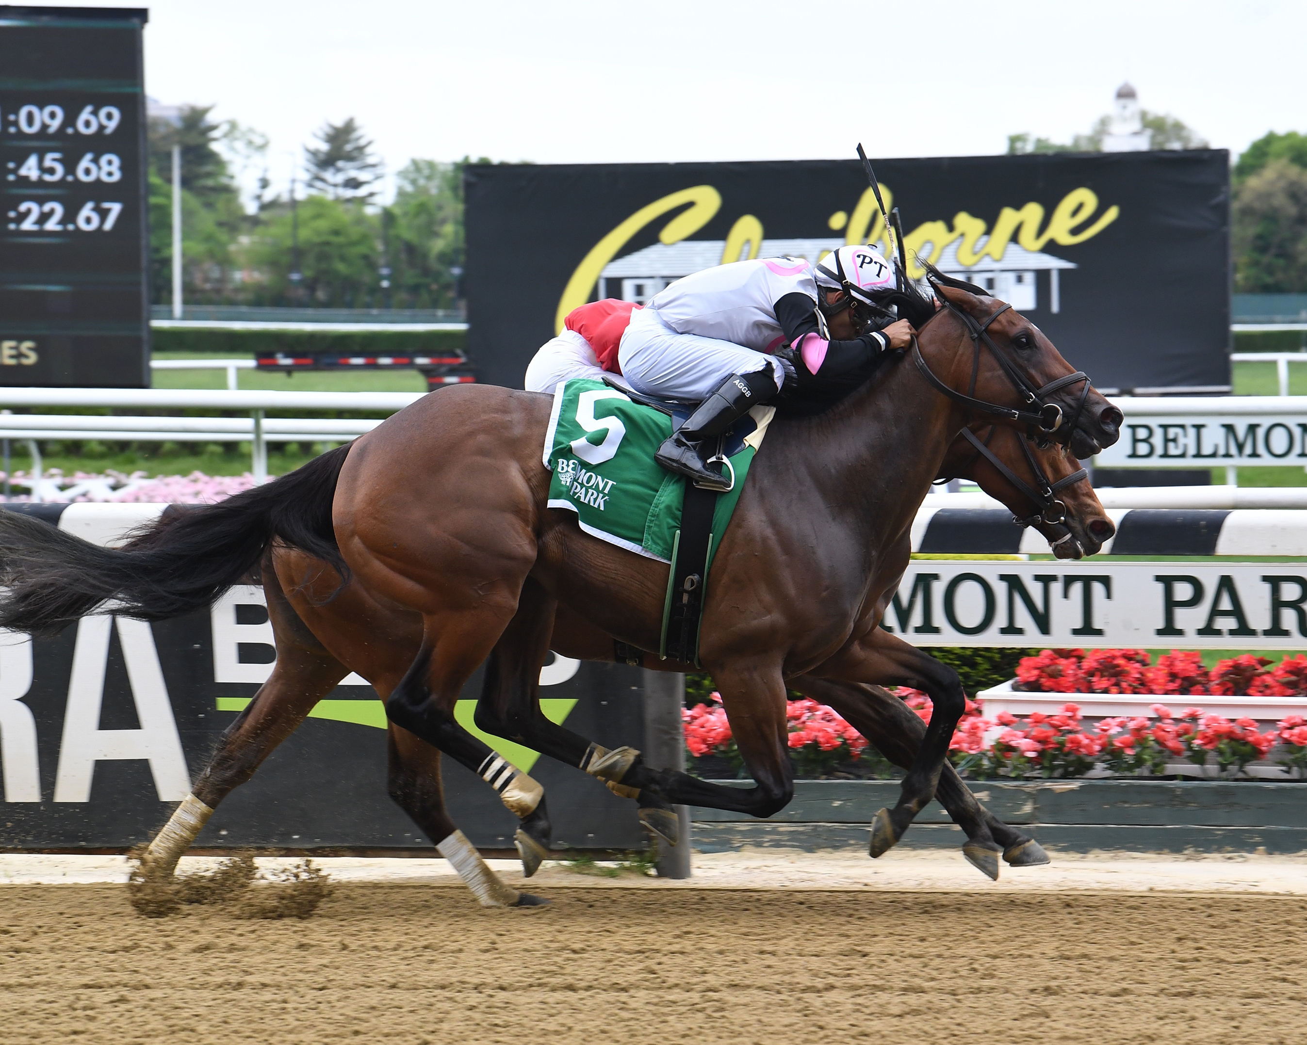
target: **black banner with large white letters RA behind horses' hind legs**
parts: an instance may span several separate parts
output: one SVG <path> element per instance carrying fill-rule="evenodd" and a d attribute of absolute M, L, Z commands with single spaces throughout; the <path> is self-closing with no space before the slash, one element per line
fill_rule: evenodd
<path fill-rule="evenodd" d="M 272 667 L 263 590 L 233 589 L 212 613 L 161 624 L 90 617 L 52 640 L 0 634 L 0 849 L 127 848 L 190 790 L 220 735 Z M 545 713 L 605 746 L 643 743 L 640 670 L 558 661 Z M 422 848 L 386 793 L 384 709 L 352 677 L 237 788 L 197 846 Z M 472 725 L 480 673 L 457 717 Z M 637 849 L 635 805 L 597 780 L 497 742 L 549 797 L 559 846 Z M 516 819 L 477 776 L 443 760 L 455 823 L 474 845 L 511 849 Z"/>

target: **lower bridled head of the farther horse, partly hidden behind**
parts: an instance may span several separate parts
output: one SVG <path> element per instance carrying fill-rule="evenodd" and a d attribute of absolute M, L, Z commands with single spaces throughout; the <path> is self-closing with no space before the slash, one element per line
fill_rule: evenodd
<path fill-rule="evenodd" d="M 1040 448 L 1004 425 L 976 428 L 958 432 L 940 478 L 961 475 L 979 483 L 1014 520 L 1039 530 L 1059 559 L 1094 555 L 1116 533 L 1089 475 L 1064 447 Z"/>

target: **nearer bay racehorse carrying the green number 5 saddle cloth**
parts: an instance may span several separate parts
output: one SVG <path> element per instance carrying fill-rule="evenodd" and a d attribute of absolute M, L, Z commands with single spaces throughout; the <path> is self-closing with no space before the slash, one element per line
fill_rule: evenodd
<path fill-rule="evenodd" d="M 787 677 L 912 686 L 929 694 L 935 712 L 899 803 L 877 816 L 873 849 L 897 841 L 936 792 L 963 695 L 953 671 L 876 624 L 902 572 L 897 549 L 951 434 L 982 413 L 1038 426 L 1042 439 L 1085 455 L 1115 442 L 1120 423 L 1008 306 L 948 281 L 936 291 L 946 307 L 921 325 L 908 358 L 887 361 L 818 417 L 776 422 L 718 553 L 701 660 L 755 786 L 678 779 L 638 756 L 575 750 L 570 735 L 540 750 L 639 792 L 642 806 L 770 815 L 792 793 Z M 280 538 L 357 577 L 382 605 L 421 617 L 418 653 L 387 712 L 460 758 L 467 734 L 459 735 L 452 703 L 467 677 L 489 657 L 488 679 L 529 691 L 559 603 L 627 645 L 657 643 L 665 567 L 597 542 L 544 507 L 549 473 L 538 444 L 548 410 L 548 398 L 528 393 L 450 389 L 348 453 L 157 525 L 122 551 L 7 519 L 0 626 L 50 631 L 106 600 L 115 613 L 170 617 L 212 601 Z"/>

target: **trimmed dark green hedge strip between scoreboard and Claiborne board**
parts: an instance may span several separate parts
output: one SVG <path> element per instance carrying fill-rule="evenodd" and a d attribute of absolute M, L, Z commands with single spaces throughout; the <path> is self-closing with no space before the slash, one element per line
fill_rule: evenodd
<path fill-rule="evenodd" d="M 367 333 L 310 333 L 299 330 L 195 330 L 161 328 L 152 330 L 154 351 L 186 351 L 196 355 L 226 358 L 254 357 L 263 353 L 286 354 L 340 351 L 386 355 L 404 353 L 456 351 L 467 345 L 467 330 L 376 330 Z"/>

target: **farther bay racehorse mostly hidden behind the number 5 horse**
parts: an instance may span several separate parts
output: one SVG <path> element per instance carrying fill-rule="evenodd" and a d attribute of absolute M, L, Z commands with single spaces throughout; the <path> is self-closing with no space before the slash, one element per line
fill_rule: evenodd
<path fill-rule="evenodd" d="M 1112 534 L 1111 520 L 1103 513 L 1086 473 L 1060 447 L 1035 448 L 1027 458 L 1023 434 L 997 428 L 984 432 L 984 436 L 988 443 L 983 439 L 982 444 L 987 445 L 992 460 L 978 453 L 968 439 L 959 435 L 944 461 L 944 475 L 976 479 L 1014 516 L 1035 525 L 1061 558 L 1093 554 Z M 1063 503 L 1061 508 L 1050 504 L 1043 490 L 1055 495 Z M 1064 521 L 1050 522 L 1044 516 Z M 904 566 L 908 555 L 906 537 L 902 549 Z M 350 579 L 337 592 L 339 575 L 323 560 L 298 549 L 273 546 L 264 555 L 260 573 L 276 636 L 277 661 L 267 683 L 229 728 L 196 781 L 195 798 L 209 810 L 217 809 L 233 789 L 246 782 L 349 671 L 367 679 L 384 700 L 399 684 L 403 665 L 412 662 L 422 640 L 422 622 L 416 614 L 382 605 L 362 590 L 357 579 Z M 578 660 L 614 660 L 612 636 L 567 607 L 559 607 L 555 615 L 549 645 Z M 693 665 L 663 661 L 652 653 L 644 654 L 640 662 L 654 670 L 694 670 Z M 925 725 L 897 696 L 878 686 L 806 675 L 789 679 L 788 686 L 834 707 L 894 764 L 904 769 L 911 765 Z M 527 694 L 488 691 L 488 698 L 489 703 L 477 713 L 481 726 L 518 743 L 529 746 L 536 742 L 540 724 L 548 721 L 540 712 L 538 687 Z M 477 743 L 471 737 L 468 741 Z M 582 738 L 582 743 L 588 745 L 588 741 Z M 387 780 L 392 798 L 429 837 L 447 837 L 456 828 L 443 803 L 439 752 L 393 724 L 389 726 L 388 748 Z M 489 750 L 480 758 L 485 764 L 490 759 Z M 966 831 L 967 858 L 985 874 L 997 874 L 993 843 L 1002 846 L 1004 858 L 1013 865 L 1047 860 L 1029 836 L 1001 823 L 980 806 L 948 763 L 936 798 Z M 512 811 L 520 814 L 516 844 L 529 876 L 548 853 L 549 819 L 544 796 L 531 809 Z M 188 823 L 184 812 L 175 816 L 150 848 L 153 870 L 170 874 L 200 826 Z"/>

